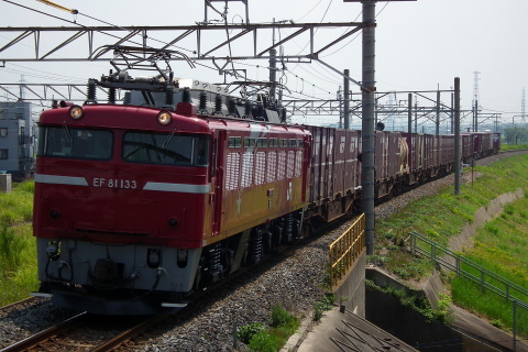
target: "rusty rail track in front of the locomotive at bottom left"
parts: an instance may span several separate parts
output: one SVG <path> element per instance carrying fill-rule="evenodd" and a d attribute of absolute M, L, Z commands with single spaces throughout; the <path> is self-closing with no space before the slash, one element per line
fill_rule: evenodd
<path fill-rule="evenodd" d="M 111 351 L 166 317 L 164 315 L 141 318 L 127 317 L 127 319 L 112 317 L 101 321 L 100 316 L 81 312 L 15 342 L 0 352 Z"/>

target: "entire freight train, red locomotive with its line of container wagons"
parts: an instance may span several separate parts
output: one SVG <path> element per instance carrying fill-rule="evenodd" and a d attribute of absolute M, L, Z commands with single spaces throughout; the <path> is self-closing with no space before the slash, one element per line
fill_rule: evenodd
<path fill-rule="evenodd" d="M 56 103 L 38 122 L 35 295 L 55 305 L 179 309 L 361 205 L 361 131 L 288 125 L 264 96 L 238 101 L 199 81 L 120 72 L 90 87 L 85 105 Z M 499 148 L 496 133 L 461 140 L 464 162 Z M 452 135 L 377 131 L 375 145 L 378 198 L 453 167 Z"/>

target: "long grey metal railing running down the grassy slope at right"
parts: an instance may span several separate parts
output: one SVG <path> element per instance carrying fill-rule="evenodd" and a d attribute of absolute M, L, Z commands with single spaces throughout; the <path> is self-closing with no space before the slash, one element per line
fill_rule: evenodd
<path fill-rule="evenodd" d="M 421 254 L 438 263 L 443 267 L 451 270 L 475 284 L 482 292 L 488 290 L 513 304 L 513 331 L 514 331 L 514 351 L 516 350 L 517 331 L 517 308 L 524 308 L 528 312 L 528 289 L 488 271 L 473 261 L 438 244 L 435 241 L 417 233 L 410 232 L 410 244 L 413 254 Z"/>

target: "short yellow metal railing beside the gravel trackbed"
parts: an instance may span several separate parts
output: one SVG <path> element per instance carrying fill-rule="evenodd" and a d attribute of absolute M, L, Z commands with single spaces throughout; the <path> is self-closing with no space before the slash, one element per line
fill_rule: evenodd
<path fill-rule="evenodd" d="M 330 244 L 330 288 L 353 268 L 355 260 L 365 248 L 365 215 L 361 215 L 354 223 Z"/>

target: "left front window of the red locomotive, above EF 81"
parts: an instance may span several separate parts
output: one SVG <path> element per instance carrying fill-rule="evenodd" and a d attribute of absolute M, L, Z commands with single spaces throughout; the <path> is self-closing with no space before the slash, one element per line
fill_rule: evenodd
<path fill-rule="evenodd" d="M 110 131 L 40 127 L 37 155 L 108 161 L 112 157 L 113 134 Z"/>

